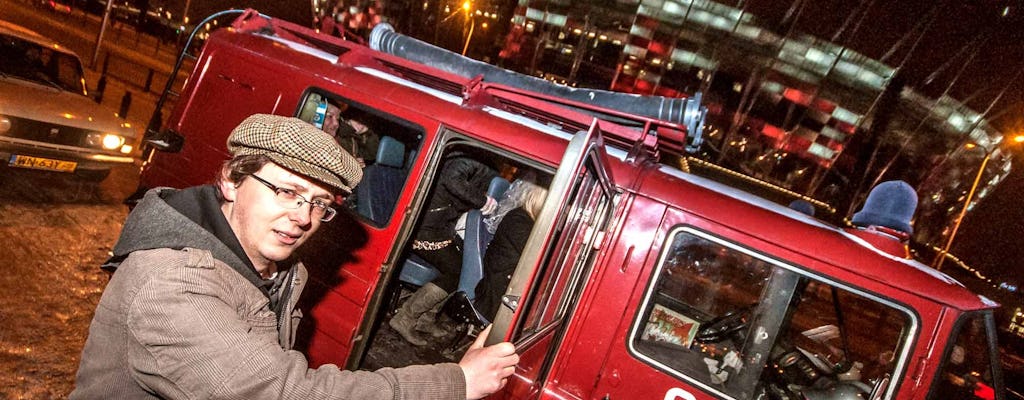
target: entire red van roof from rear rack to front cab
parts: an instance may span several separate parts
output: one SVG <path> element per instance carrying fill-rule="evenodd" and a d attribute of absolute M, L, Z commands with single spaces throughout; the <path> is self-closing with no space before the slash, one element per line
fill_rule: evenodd
<path fill-rule="evenodd" d="M 240 28 L 239 23 L 236 24 L 236 28 Z M 267 35 L 267 30 L 262 29 L 267 24 L 275 28 L 284 28 L 284 30 L 278 30 L 276 35 Z M 464 91 L 467 87 L 466 85 L 468 85 L 467 82 L 472 84 L 472 80 L 470 79 L 455 77 L 452 74 L 436 71 L 436 74 L 430 74 L 428 78 L 443 82 L 438 86 L 434 86 L 429 83 L 415 81 L 415 78 L 412 77 L 417 73 L 423 75 L 423 70 L 435 72 L 430 66 L 408 61 L 390 54 L 368 53 L 369 49 L 364 49 L 361 46 L 353 46 L 350 43 L 344 43 L 333 37 L 325 38 L 317 36 L 304 27 L 298 27 L 287 21 L 269 18 L 251 18 L 242 23 L 242 25 L 248 25 L 248 27 L 236 30 L 236 34 L 250 33 L 262 36 L 263 38 L 283 44 L 292 50 L 303 52 L 330 62 L 338 62 L 335 63 L 336 68 L 352 68 L 364 74 L 377 71 L 378 73 L 375 75 L 378 75 L 379 78 L 392 81 L 406 81 L 401 86 L 427 93 L 441 100 L 447 100 L 457 105 L 461 104 L 461 108 L 464 109 L 466 107 L 474 108 L 481 105 L 480 103 L 474 103 L 472 99 L 467 100 L 465 96 L 468 94 L 465 92 L 461 93 L 462 97 L 459 96 L 460 88 Z M 309 41 L 312 39 L 316 39 L 313 41 L 316 43 Z M 319 40 L 325 41 L 321 42 Z M 327 51 L 328 49 L 331 51 Z M 352 56 L 347 57 L 348 55 Z M 369 57 L 367 57 L 368 55 Z M 295 58 L 290 59 L 292 62 L 298 62 Z M 341 62 L 340 59 L 346 59 L 346 61 Z M 409 71 L 412 74 L 403 73 L 411 69 L 417 71 Z M 393 75 L 393 77 L 388 78 L 384 77 L 384 75 Z M 410 79 L 414 81 L 408 81 Z M 522 92 L 516 92 L 514 89 L 503 85 L 482 85 L 488 89 L 497 89 L 488 93 L 495 96 L 489 97 L 488 99 L 490 100 L 501 97 L 506 100 L 506 103 L 511 103 L 515 101 L 514 99 L 517 96 L 523 96 Z M 449 86 L 452 87 L 449 88 Z M 536 100 L 540 96 L 530 96 L 530 98 Z M 518 103 L 518 105 L 522 104 Z M 563 104 L 559 108 L 564 107 L 565 105 Z M 519 113 L 523 116 L 549 116 L 551 119 L 557 118 L 558 121 L 545 120 L 530 122 L 532 120 L 516 121 L 514 118 L 500 119 L 506 122 L 517 123 L 540 134 L 549 137 L 560 137 L 564 140 L 567 135 L 561 135 L 559 131 L 565 133 L 568 130 L 579 128 L 581 124 L 583 127 L 586 127 L 587 121 L 587 119 L 582 118 L 583 115 L 581 113 L 571 109 L 571 106 L 564 109 L 566 110 L 565 113 L 557 113 L 557 115 Z M 480 114 L 494 113 L 493 108 L 487 110 L 477 107 L 477 110 Z M 519 109 L 516 110 L 519 112 Z M 462 113 L 454 109 L 452 112 Z M 526 112 L 536 112 L 536 109 L 527 109 Z M 479 116 L 472 112 L 469 114 Z M 473 119 L 472 117 L 470 118 Z M 525 117 L 521 119 L 525 119 Z M 537 124 L 538 122 L 543 126 Z M 616 130 L 615 134 L 617 135 L 611 141 L 615 142 L 620 147 L 612 150 L 618 153 L 618 159 L 625 159 L 623 157 L 625 151 L 622 147 L 624 144 L 629 145 L 630 141 L 635 141 L 635 146 L 637 147 L 642 144 L 643 147 L 650 150 L 644 151 L 645 153 L 656 157 L 659 143 L 651 144 L 651 135 L 632 133 L 634 130 L 625 129 L 615 123 L 611 123 L 610 127 Z M 602 126 L 603 128 L 604 126 Z M 658 138 L 657 140 L 660 139 Z M 651 150 L 651 148 L 653 149 Z M 548 155 L 550 158 L 550 154 Z M 745 232 L 765 242 L 774 243 L 775 246 L 813 259 L 817 262 L 814 270 L 821 273 L 858 274 L 897 290 L 962 310 L 986 309 L 997 306 L 994 302 L 970 292 L 962 283 L 948 275 L 920 262 L 888 255 L 842 228 L 800 214 L 782 205 L 769 202 L 755 194 L 693 174 L 684 173 L 673 167 L 660 165 L 657 167 L 657 172 L 646 174 L 646 178 L 640 183 L 640 186 L 630 190 L 634 190 L 640 195 L 662 201 L 678 209 L 685 210 L 688 213 Z M 679 196 L 680 192 L 686 193 L 685 204 Z M 723 209 L 728 210 L 728 212 L 723 212 Z M 807 237 L 814 237 L 814 239 L 807 240 Z"/>

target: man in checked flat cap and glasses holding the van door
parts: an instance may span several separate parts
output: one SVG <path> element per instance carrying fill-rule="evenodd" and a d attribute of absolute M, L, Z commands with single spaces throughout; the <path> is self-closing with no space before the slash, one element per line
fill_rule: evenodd
<path fill-rule="evenodd" d="M 151 190 L 128 217 L 72 399 L 472 399 L 504 386 L 509 343 L 478 341 L 459 364 L 309 369 L 290 350 L 307 278 L 293 255 L 361 171 L 293 118 L 252 116 L 227 147 L 215 185 Z"/>

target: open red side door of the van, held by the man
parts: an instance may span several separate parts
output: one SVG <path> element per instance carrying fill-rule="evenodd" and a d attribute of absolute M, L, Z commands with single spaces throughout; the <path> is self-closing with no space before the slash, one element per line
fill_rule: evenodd
<path fill-rule="evenodd" d="M 509 341 L 520 355 L 505 390 L 536 398 L 564 336 L 597 250 L 608 230 L 615 191 L 595 120 L 572 137 L 555 173 L 487 344 Z"/>

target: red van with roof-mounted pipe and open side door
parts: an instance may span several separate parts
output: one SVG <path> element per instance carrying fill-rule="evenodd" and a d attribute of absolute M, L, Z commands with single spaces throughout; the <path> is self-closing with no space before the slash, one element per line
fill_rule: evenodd
<path fill-rule="evenodd" d="M 458 153 L 506 178 L 550 181 L 493 321 L 488 340 L 521 354 L 494 398 L 1005 397 L 997 304 L 884 232 L 688 173 L 696 99 L 589 102 L 606 93 L 463 77 L 458 56 L 386 29 L 371 45 L 434 58 L 246 11 L 209 36 L 164 128 L 146 137 L 142 188 L 210 181 L 225 137 L 254 113 L 314 123 L 322 104 L 343 103 L 380 135 L 349 218 L 306 249 L 313 365 L 423 361 L 385 354 L 393 332 L 382 322 L 430 278 L 410 260 L 411 241 L 440 161 Z M 628 108 L 641 101 L 664 107 Z"/>

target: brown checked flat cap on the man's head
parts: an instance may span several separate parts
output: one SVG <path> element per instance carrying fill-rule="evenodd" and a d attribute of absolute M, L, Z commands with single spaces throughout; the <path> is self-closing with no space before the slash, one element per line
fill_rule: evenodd
<path fill-rule="evenodd" d="M 227 137 L 231 157 L 263 154 L 274 164 L 348 194 L 362 169 L 331 135 L 297 118 L 256 114 Z"/>

